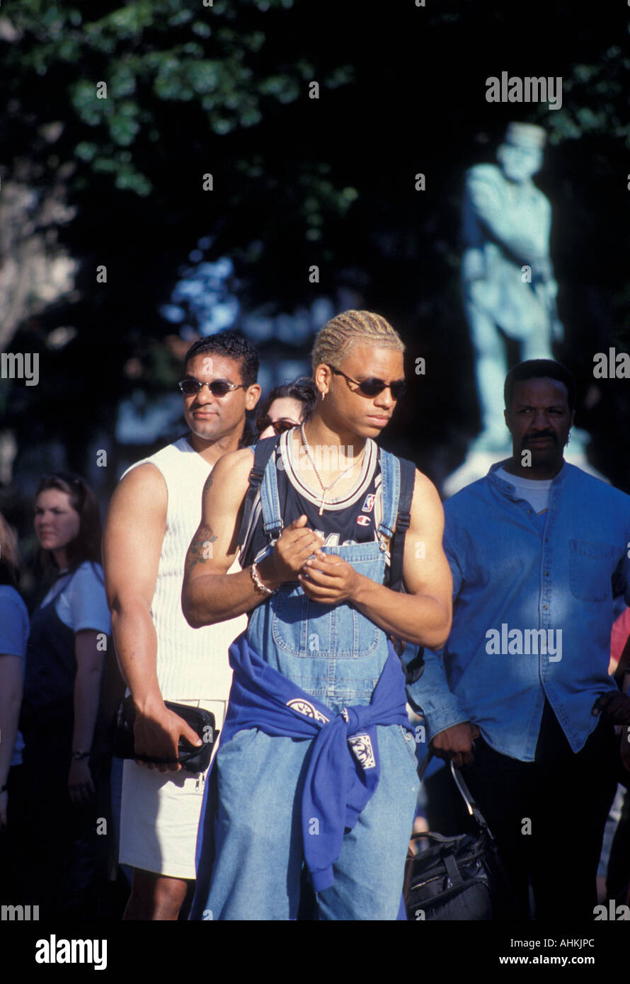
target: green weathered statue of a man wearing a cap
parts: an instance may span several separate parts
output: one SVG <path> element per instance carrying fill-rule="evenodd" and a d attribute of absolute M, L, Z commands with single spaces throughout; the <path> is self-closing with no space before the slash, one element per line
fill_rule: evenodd
<path fill-rule="evenodd" d="M 476 164 L 466 172 L 462 280 L 483 427 L 474 443 L 479 451 L 503 451 L 508 436 L 502 333 L 521 343 L 521 359 L 553 358 L 551 340 L 562 338 L 549 258 L 551 207 L 532 181 L 544 141 L 541 127 L 510 123 L 499 166 Z"/>

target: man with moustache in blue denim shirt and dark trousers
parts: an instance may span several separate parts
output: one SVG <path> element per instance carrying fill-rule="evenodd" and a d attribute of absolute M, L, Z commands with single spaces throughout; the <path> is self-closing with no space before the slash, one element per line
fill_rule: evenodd
<path fill-rule="evenodd" d="M 611 715 L 597 715 L 616 690 L 613 598 L 630 603 L 630 498 L 564 461 L 575 387 L 563 366 L 516 366 L 505 403 L 512 458 L 445 504 L 453 627 L 425 650 L 415 691 L 524 917 L 531 879 L 536 918 L 593 918 L 618 765 Z"/>

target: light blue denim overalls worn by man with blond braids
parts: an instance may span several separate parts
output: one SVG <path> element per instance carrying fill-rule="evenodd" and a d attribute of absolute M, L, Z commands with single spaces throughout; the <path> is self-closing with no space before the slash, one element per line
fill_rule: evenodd
<path fill-rule="evenodd" d="M 396 522 L 398 459 L 380 452 L 383 516 L 379 542 L 324 547 L 383 584 Z M 261 486 L 265 532 L 283 529 L 276 461 Z M 325 514 L 324 514 L 325 518 Z M 324 519 L 323 518 L 323 519 Z M 271 546 L 260 554 L 270 552 Z M 367 705 L 388 657 L 384 630 L 351 604 L 311 601 L 283 584 L 251 613 L 247 640 L 263 658 L 332 710 Z M 401 676 L 401 688 L 404 679 Z M 417 793 L 413 736 L 379 726 L 380 781 L 344 838 L 335 885 L 317 896 L 321 919 L 396 919 Z M 302 868 L 300 801 L 310 740 L 238 732 L 217 754 L 219 814 L 206 919 L 295 919 Z"/>

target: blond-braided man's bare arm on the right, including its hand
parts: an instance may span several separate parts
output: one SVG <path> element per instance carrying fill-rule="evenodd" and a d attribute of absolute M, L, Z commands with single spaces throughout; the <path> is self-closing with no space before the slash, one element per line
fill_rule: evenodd
<path fill-rule="evenodd" d="M 453 583 L 442 549 L 444 514 L 433 484 L 419 471 L 411 503 L 410 528 L 405 538 L 403 580 L 409 593 L 392 591 L 357 574 L 334 554 L 308 561 L 308 579 L 300 582 L 315 600 L 351 601 L 386 632 L 417 646 L 443 646 L 451 628 Z M 347 587 L 334 584 L 335 568 Z M 332 590 L 332 596 L 329 591 Z"/>

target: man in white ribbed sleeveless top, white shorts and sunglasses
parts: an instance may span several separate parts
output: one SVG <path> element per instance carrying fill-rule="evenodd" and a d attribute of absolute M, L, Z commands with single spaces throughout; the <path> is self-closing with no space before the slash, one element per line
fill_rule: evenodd
<path fill-rule="evenodd" d="M 125 472 L 103 536 L 112 632 L 136 707 L 135 750 L 163 759 L 177 757 L 180 735 L 200 744 L 164 701 L 206 707 L 221 729 L 231 683 L 227 648 L 247 620 L 191 629 L 181 585 L 204 485 L 221 456 L 239 448 L 245 411 L 260 398 L 256 350 L 233 333 L 195 342 L 184 364 L 179 386 L 189 433 Z M 195 878 L 204 782 L 205 774 L 174 763 L 125 762 L 119 861 L 134 869 L 125 919 L 177 919 Z"/>

